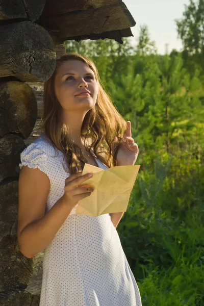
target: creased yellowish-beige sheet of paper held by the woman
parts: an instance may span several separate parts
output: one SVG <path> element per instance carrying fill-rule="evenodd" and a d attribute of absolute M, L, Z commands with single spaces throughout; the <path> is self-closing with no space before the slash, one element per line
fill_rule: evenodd
<path fill-rule="evenodd" d="M 90 184 L 94 191 L 80 200 L 76 213 L 97 217 L 103 214 L 126 212 L 140 166 L 116 166 L 106 170 L 85 164 L 82 175 L 93 176 L 83 184 Z"/>

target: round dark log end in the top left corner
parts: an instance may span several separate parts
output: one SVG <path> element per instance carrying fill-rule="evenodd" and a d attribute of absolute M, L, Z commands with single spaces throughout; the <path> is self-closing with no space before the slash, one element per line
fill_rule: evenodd
<path fill-rule="evenodd" d="M 23 18 L 36 21 L 44 5 L 45 0 L 0 0 L 0 20 Z"/>

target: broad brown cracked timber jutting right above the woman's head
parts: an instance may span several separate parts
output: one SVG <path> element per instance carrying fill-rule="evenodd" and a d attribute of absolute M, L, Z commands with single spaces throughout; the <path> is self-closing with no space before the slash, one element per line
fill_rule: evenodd
<path fill-rule="evenodd" d="M 36 21 L 64 40 L 133 27 L 136 22 L 124 3 L 42 17 Z"/>

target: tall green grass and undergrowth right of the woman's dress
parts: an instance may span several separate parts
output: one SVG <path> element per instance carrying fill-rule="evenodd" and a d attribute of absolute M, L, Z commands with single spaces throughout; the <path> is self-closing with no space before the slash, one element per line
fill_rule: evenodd
<path fill-rule="evenodd" d="M 175 150 L 138 174 L 117 231 L 143 306 L 204 306 L 204 167 Z"/>

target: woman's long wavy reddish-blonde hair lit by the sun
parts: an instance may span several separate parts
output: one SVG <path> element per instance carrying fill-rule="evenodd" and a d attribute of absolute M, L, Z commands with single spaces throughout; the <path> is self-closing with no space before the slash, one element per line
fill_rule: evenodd
<path fill-rule="evenodd" d="M 58 67 L 68 60 L 79 60 L 86 63 L 94 72 L 98 84 L 96 104 L 86 113 L 81 127 L 81 138 L 85 141 L 85 148 L 91 156 L 95 155 L 108 168 L 117 166 L 116 157 L 123 133 L 126 130 L 126 121 L 116 110 L 111 98 L 103 88 L 94 63 L 80 54 L 67 53 L 57 59 L 52 77 L 44 83 L 43 117 L 39 132 L 54 148 L 64 154 L 70 175 L 83 170 L 87 160 L 84 158 L 81 148 L 69 137 L 68 127 L 61 120 L 62 107 L 55 94 L 54 82 Z M 115 136 L 118 138 L 117 141 L 114 140 Z M 114 154 L 112 145 L 115 148 Z"/>

